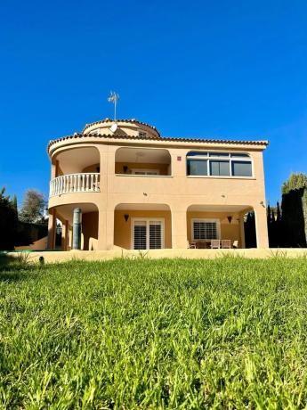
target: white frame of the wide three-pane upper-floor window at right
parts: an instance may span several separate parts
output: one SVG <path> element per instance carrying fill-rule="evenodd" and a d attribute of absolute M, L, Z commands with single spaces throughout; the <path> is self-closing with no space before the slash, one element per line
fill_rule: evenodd
<path fill-rule="evenodd" d="M 190 152 L 197 152 L 197 151 L 190 151 Z M 206 153 L 207 155 L 202 155 Z M 210 156 L 210 154 L 216 154 Z M 219 157 L 218 154 L 228 154 L 228 157 L 223 156 Z M 232 155 L 238 154 L 245 154 L 248 155 L 247 157 L 231 157 Z M 188 160 L 206 160 L 206 174 L 207 175 L 188 175 Z M 228 161 L 230 165 L 230 175 L 210 175 L 210 160 L 222 160 Z M 241 162 L 250 162 L 252 166 L 252 175 L 251 176 L 233 176 L 232 175 L 232 161 L 241 161 Z M 186 155 L 186 175 L 191 178 L 231 178 L 231 179 L 254 179 L 254 160 L 248 152 L 219 152 L 219 151 L 199 151 L 199 155 L 191 155 L 189 156 L 189 152 Z"/>

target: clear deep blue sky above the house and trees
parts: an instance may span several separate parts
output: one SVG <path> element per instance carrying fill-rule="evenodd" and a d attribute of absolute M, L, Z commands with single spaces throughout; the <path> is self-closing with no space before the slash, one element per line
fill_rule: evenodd
<path fill-rule="evenodd" d="M 307 2 L 0 3 L 0 187 L 48 193 L 50 139 L 112 115 L 269 139 L 267 199 L 307 172 Z"/>

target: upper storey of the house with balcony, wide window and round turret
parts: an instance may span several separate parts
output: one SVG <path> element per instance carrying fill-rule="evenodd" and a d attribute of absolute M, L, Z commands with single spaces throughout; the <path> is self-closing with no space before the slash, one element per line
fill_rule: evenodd
<path fill-rule="evenodd" d="M 263 195 L 266 141 L 162 138 L 136 120 L 106 119 L 52 141 L 50 196 L 63 193 Z M 113 129 L 113 131 L 112 131 Z"/>

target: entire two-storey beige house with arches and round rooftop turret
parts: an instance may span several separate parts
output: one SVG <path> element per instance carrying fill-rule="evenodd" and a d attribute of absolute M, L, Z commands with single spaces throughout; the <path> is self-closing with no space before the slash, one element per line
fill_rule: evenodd
<path fill-rule="evenodd" d="M 263 151 L 267 141 L 161 137 L 136 119 L 103 119 L 48 144 L 52 163 L 48 249 L 72 246 L 74 209 L 83 250 L 245 248 L 254 210 L 258 248 L 268 247 Z"/>

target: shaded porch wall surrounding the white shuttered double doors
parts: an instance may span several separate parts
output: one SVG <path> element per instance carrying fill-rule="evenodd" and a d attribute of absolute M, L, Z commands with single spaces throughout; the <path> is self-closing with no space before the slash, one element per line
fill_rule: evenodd
<path fill-rule="evenodd" d="M 124 215 L 129 215 L 125 222 Z M 126 250 L 131 247 L 131 221 L 133 217 L 158 217 L 165 223 L 165 248 L 172 248 L 172 217 L 170 211 L 165 210 L 116 210 L 114 217 L 114 244 Z"/>

